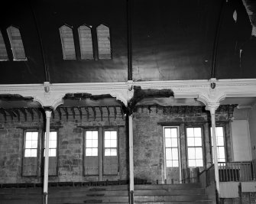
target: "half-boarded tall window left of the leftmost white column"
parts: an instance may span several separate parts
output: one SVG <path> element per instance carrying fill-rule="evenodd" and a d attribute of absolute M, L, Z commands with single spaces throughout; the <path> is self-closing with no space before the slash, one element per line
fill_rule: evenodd
<path fill-rule="evenodd" d="M 24 134 L 24 157 L 22 160 L 22 175 L 37 176 L 38 132 L 26 131 Z"/>

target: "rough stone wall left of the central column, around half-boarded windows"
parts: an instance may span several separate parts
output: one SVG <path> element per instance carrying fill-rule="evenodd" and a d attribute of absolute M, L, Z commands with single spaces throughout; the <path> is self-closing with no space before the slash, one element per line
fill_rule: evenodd
<path fill-rule="evenodd" d="M 69 111 L 69 109 L 68 109 Z M 91 110 L 92 111 L 92 110 Z M 106 110 L 105 110 L 106 111 Z M 96 129 L 112 128 L 118 129 L 119 141 L 119 173 L 116 176 L 103 176 L 102 180 L 127 180 L 128 176 L 128 148 L 125 117 L 120 108 L 116 114 L 110 108 L 109 116 L 101 114 L 87 115 L 71 114 L 68 117 L 60 117 L 57 111 L 54 118 L 50 120 L 50 130 L 57 131 L 57 176 L 49 176 L 51 181 L 89 181 L 99 180 L 99 176 L 85 176 L 83 173 L 83 148 L 84 131 L 88 127 Z M 20 118 L 10 115 L 0 115 L 0 183 L 41 183 L 42 182 L 42 154 L 37 154 L 38 169 L 37 176 L 22 175 L 22 154 L 24 147 L 24 131 L 37 130 L 39 132 L 39 152 L 42 152 L 42 141 L 44 138 L 44 117 L 37 114 L 28 113 L 26 119 L 24 115 Z"/>

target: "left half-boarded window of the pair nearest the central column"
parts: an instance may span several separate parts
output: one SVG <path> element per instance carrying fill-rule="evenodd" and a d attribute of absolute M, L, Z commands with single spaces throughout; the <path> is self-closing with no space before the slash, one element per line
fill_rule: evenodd
<path fill-rule="evenodd" d="M 99 175 L 99 136 L 98 131 L 85 134 L 85 175 Z"/>

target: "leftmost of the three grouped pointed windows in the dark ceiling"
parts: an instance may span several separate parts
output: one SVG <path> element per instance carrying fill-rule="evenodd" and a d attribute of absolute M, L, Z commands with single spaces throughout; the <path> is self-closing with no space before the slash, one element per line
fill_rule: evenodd
<path fill-rule="evenodd" d="M 66 25 L 60 27 L 60 39 L 62 44 L 63 59 L 76 60 L 76 51 L 72 28 Z"/>

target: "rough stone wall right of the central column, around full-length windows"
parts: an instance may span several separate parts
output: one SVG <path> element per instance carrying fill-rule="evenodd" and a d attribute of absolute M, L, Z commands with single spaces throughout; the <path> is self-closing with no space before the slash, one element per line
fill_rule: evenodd
<path fill-rule="evenodd" d="M 229 131 L 229 115 L 219 109 L 216 124 L 224 126 L 226 157 L 232 160 Z M 180 154 L 183 169 L 187 168 L 186 127 L 203 129 L 203 163 L 204 167 L 212 164 L 209 113 L 202 107 L 145 107 L 137 108 L 134 113 L 134 177 L 146 179 L 151 183 L 164 183 L 164 126 L 178 126 L 180 129 Z M 169 168 L 168 168 L 169 169 Z M 173 181 L 169 180 L 173 178 Z M 179 168 L 167 170 L 167 183 L 179 182 Z"/>

